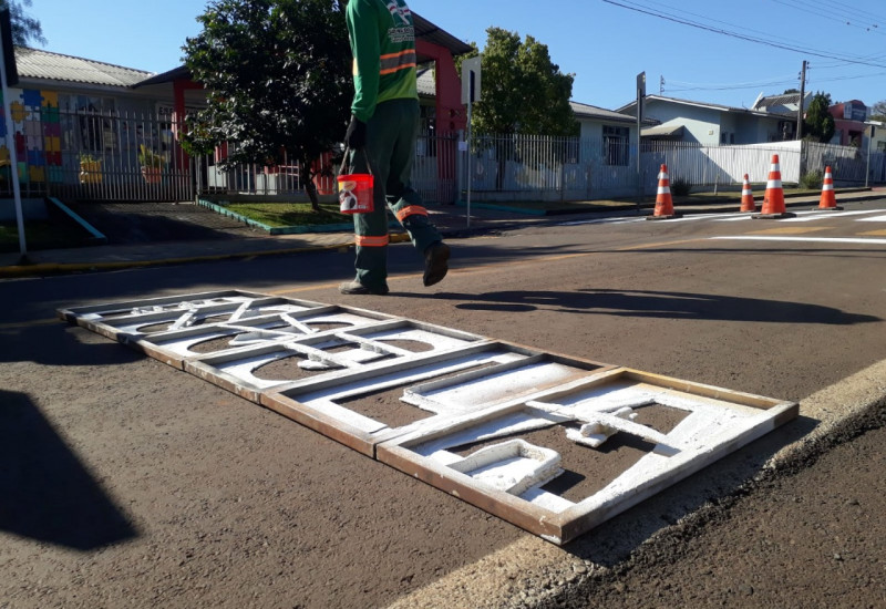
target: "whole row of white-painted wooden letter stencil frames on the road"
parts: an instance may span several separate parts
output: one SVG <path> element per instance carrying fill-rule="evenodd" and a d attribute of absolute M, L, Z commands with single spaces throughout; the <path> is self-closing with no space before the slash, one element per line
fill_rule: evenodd
<path fill-rule="evenodd" d="M 239 290 L 60 309 L 58 313 L 554 544 L 569 541 L 799 413 L 794 402 L 616 368 L 364 309 Z M 311 321 L 347 327 L 312 332 Z M 152 331 L 152 326 L 159 329 Z M 256 343 L 199 354 L 190 350 L 196 343 L 228 336 L 247 336 Z M 430 350 L 406 343 L 424 343 Z M 293 354 L 301 358 L 295 376 L 267 380 L 253 374 Z M 316 373 L 299 378 L 302 369 Z M 392 393 L 400 390 L 402 395 Z M 430 414 L 389 425 L 344 405 L 379 393 L 388 393 L 381 406 L 389 409 L 388 414 L 391 404 L 401 402 Z M 638 413 L 655 409 L 679 411 L 682 419 L 674 416 L 672 425 L 660 425 L 669 427 L 662 430 L 632 421 Z M 569 458 L 525 440 L 539 430 L 559 433 L 560 429 L 565 435 L 536 437 L 557 444 Z M 643 446 L 635 451 L 640 456 L 615 478 L 578 498 L 577 492 L 566 497 L 550 486 L 562 468 L 594 463 L 586 458 L 594 453 L 583 451 L 596 451 L 612 436 L 640 438 Z"/>

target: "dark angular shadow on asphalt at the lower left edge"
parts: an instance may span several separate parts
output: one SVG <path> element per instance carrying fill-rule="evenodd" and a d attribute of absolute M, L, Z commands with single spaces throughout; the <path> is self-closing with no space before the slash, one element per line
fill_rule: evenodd
<path fill-rule="evenodd" d="M 0 530 L 78 550 L 137 535 L 28 395 L 3 390 Z"/>

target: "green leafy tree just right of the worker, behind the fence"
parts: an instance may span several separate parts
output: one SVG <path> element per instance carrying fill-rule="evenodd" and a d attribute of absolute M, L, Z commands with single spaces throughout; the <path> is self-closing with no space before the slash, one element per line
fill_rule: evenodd
<path fill-rule="evenodd" d="M 574 74 L 550 61 L 547 45 L 499 28 L 486 30 L 483 90 L 473 127 L 487 134 L 577 135 L 569 99 Z M 468 54 L 468 56 L 471 56 Z"/>

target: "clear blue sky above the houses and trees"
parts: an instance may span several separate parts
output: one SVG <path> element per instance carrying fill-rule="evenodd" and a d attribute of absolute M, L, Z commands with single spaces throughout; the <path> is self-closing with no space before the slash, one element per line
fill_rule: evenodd
<path fill-rule="evenodd" d="M 81 10 L 82 6 L 82 10 Z M 465 42 L 502 28 L 546 44 L 575 75 L 573 101 L 616 110 L 647 94 L 750 107 L 758 96 L 800 89 L 834 103 L 886 100 L 883 0 L 409 0 L 410 8 Z M 74 9 L 76 7 L 76 10 Z M 182 64 L 206 0 L 33 0 L 39 49 L 150 72 Z"/>

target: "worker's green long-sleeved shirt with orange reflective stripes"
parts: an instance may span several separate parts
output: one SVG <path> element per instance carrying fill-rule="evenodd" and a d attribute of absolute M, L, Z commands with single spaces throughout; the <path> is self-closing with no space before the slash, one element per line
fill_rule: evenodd
<path fill-rule="evenodd" d="M 353 53 L 351 112 L 368 122 L 389 100 L 418 100 L 415 28 L 403 0 L 350 0 L 346 13 Z"/>

